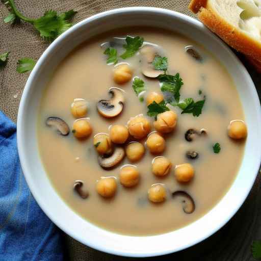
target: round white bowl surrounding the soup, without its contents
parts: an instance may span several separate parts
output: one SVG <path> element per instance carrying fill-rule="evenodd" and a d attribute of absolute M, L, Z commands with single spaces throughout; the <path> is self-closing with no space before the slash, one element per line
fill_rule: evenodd
<path fill-rule="evenodd" d="M 51 72 L 60 61 L 75 46 L 97 34 L 134 25 L 149 25 L 181 33 L 211 51 L 233 77 L 248 126 L 242 165 L 221 201 L 192 224 L 149 237 L 113 233 L 93 225 L 73 212 L 51 186 L 41 163 L 36 139 L 37 112 L 42 92 Z M 17 120 L 17 143 L 21 166 L 32 194 L 58 227 L 77 241 L 95 249 L 117 255 L 145 257 L 175 252 L 199 243 L 220 229 L 238 211 L 252 188 L 260 164 L 260 119 L 259 99 L 246 69 L 232 51 L 201 22 L 165 9 L 122 8 L 94 15 L 75 24 L 44 51 L 22 94 Z"/>

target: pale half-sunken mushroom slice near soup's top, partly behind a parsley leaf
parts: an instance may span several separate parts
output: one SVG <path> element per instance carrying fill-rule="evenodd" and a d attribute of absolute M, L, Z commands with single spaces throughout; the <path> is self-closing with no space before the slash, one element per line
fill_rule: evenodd
<path fill-rule="evenodd" d="M 152 44 L 145 44 L 140 49 L 141 54 L 141 62 L 142 62 L 142 73 L 150 78 L 158 77 L 160 74 L 164 73 L 164 71 L 155 70 L 153 67 L 153 60 L 156 55 L 161 55 L 163 51 L 159 46 Z"/>

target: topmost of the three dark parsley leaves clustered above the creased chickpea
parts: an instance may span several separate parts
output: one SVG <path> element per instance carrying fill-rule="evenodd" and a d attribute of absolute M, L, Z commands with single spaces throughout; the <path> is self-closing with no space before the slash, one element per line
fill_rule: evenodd
<path fill-rule="evenodd" d="M 183 85 L 182 79 L 179 77 L 179 73 L 176 73 L 175 75 L 160 74 L 158 79 L 162 83 L 161 90 L 163 92 L 172 93 L 176 102 L 179 102 L 179 91 Z"/>

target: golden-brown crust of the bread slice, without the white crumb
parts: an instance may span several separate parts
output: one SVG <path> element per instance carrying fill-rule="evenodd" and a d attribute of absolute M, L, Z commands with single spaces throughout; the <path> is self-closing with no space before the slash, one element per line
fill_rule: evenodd
<path fill-rule="evenodd" d="M 228 45 L 241 53 L 261 62 L 261 42 L 252 39 L 248 34 L 241 32 L 228 23 L 209 5 L 202 0 L 192 0 L 189 8 L 198 14 L 198 18 L 215 34 L 222 38 Z"/>

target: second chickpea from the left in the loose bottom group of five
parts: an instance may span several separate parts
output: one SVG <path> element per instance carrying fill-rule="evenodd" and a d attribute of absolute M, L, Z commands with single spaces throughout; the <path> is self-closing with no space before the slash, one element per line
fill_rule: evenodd
<path fill-rule="evenodd" d="M 135 166 L 124 166 L 120 171 L 120 182 L 127 188 L 137 185 L 139 178 L 140 174 Z"/>

